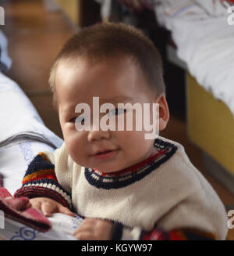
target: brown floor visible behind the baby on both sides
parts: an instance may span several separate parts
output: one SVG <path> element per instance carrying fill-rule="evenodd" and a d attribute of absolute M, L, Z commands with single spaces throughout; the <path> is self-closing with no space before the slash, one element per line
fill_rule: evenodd
<path fill-rule="evenodd" d="M 62 13 L 48 13 L 40 0 L 1 0 L 1 5 L 5 8 L 5 26 L 1 29 L 9 38 L 9 55 L 12 57 L 8 75 L 23 88 L 44 124 L 62 138 L 58 115 L 51 106 L 48 72 L 74 29 Z M 206 174 L 200 149 L 186 136 L 185 121 L 172 114 L 162 135 L 181 142 L 190 160 L 211 182 L 222 202 L 233 205 L 234 196 Z M 234 240 L 234 229 L 229 229 L 227 239 Z"/>

